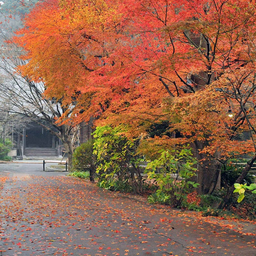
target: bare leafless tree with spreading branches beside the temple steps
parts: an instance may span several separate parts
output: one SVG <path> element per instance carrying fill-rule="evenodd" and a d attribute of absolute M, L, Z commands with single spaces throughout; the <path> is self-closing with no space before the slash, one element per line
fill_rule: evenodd
<path fill-rule="evenodd" d="M 58 119 L 63 117 L 63 113 L 67 114 L 67 108 L 71 113 L 72 108 L 63 105 L 61 99 L 45 97 L 43 82 L 35 83 L 16 71 L 20 64 L 25 64 L 18 58 L 18 53 L 17 47 L 5 48 L 1 52 L 0 110 L 26 116 L 60 138 L 68 155 L 68 169 L 71 170 L 73 145 L 70 136 L 73 125 L 70 122 L 58 123 Z"/>

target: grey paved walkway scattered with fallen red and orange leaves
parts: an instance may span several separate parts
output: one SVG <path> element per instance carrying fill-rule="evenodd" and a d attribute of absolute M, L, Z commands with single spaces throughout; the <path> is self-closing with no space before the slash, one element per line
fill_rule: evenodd
<path fill-rule="evenodd" d="M 255 236 L 63 172 L 8 168 L 0 165 L 1 256 L 256 256 Z"/>

